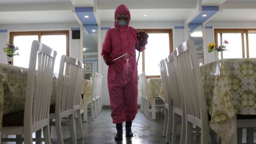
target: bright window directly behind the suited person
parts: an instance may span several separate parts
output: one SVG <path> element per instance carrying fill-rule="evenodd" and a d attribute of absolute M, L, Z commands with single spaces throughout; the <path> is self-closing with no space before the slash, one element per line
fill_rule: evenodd
<path fill-rule="evenodd" d="M 160 77 L 158 63 L 166 58 L 171 52 L 172 47 L 172 29 L 140 29 L 145 31 L 148 37 L 146 50 L 141 53 L 138 62 L 138 73 L 146 72 L 147 78 Z M 138 57 L 138 51 L 136 51 Z"/>

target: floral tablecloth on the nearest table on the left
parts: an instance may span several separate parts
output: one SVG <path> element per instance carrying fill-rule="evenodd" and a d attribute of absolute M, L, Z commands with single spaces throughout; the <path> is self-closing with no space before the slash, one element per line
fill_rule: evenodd
<path fill-rule="evenodd" d="M 3 115 L 25 108 L 27 73 L 27 68 L 0 63 L 0 131 Z M 53 75 L 51 104 L 55 103 L 57 77 L 58 75 Z"/>

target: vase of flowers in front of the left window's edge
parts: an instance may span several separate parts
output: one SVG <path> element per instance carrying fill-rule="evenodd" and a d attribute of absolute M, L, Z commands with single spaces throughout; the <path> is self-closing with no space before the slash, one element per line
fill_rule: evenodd
<path fill-rule="evenodd" d="M 12 65 L 12 59 L 14 55 L 19 55 L 17 52 L 19 50 L 18 46 L 14 46 L 13 44 L 6 44 L 6 47 L 3 47 L 3 52 L 6 53 L 7 62 Z"/>

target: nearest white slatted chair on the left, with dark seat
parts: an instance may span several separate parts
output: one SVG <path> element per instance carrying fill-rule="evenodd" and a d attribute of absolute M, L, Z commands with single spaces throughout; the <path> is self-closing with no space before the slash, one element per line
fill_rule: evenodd
<path fill-rule="evenodd" d="M 3 116 L 2 134 L 24 135 L 24 143 L 33 143 L 32 133 L 43 128 L 45 143 L 51 143 L 49 107 L 52 76 L 57 52 L 33 41 L 31 45 L 25 110 Z"/>

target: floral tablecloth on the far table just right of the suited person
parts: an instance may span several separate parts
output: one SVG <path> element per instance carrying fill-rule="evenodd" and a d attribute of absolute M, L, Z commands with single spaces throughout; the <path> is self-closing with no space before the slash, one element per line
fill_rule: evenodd
<path fill-rule="evenodd" d="M 162 85 L 162 79 L 161 78 L 149 78 L 147 79 L 148 83 L 148 100 L 151 102 L 152 98 L 159 97 L 161 85 Z M 160 94 L 161 95 L 161 94 Z M 163 96 L 162 91 L 162 96 Z"/>

